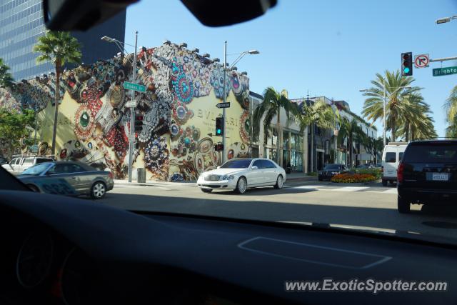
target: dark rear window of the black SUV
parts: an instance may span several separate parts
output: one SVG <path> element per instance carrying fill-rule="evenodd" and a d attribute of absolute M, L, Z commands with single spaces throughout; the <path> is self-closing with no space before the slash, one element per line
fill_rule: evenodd
<path fill-rule="evenodd" d="M 405 162 L 457 163 L 457 144 L 411 145 L 405 152 Z"/>

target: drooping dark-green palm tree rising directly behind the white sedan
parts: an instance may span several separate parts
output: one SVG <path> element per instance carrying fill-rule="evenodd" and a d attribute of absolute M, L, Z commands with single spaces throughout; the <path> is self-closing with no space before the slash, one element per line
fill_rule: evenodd
<path fill-rule="evenodd" d="M 263 101 L 257 106 L 253 112 L 253 122 L 254 129 L 258 132 L 258 129 L 261 128 L 261 122 L 263 122 L 263 130 L 265 131 L 265 136 L 268 137 L 270 131 L 270 124 L 273 118 L 276 116 L 276 163 L 282 163 L 282 159 L 279 158 L 279 144 L 280 144 L 280 134 L 281 134 L 281 109 L 284 109 L 286 112 L 287 124 L 290 120 L 291 114 L 296 114 L 297 107 L 295 103 L 292 103 L 289 99 L 286 98 L 283 94 L 280 94 L 273 87 L 268 87 L 263 92 Z M 262 120 L 263 119 L 263 120 Z M 261 139 L 262 141 L 263 139 Z M 280 164 L 281 165 L 281 164 Z"/>

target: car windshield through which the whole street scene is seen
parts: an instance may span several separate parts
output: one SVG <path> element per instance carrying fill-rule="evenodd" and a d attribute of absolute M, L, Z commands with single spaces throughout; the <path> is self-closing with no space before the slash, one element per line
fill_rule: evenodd
<path fill-rule="evenodd" d="M 457 139 L 456 1 L 278 0 L 222 27 L 186 1 L 92 1 L 132 5 L 68 32 L 47 31 L 47 2 L 0 1 L 9 174 L 66 179 L 82 200 L 103 177 L 96 199 L 127 210 L 457 244 L 457 144 L 406 148 Z M 111 14 L 96 12 L 68 20 Z M 46 160 L 63 170 L 33 177 Z"/>

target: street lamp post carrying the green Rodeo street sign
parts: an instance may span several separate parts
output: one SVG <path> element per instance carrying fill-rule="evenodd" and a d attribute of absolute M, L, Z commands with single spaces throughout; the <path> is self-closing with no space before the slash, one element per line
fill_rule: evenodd
<path fill-rule="evenodd" d="M 103 36 L 101 37 L 101 40 L 106 41 L 106 42 L 111 42 L 116 44 L 121 51 L 126 54 L 127 51 L 124 48 L 124 45 L 127 46 L 132 46 L 131 44 L 126 44 L 125 42 L 121 42 L 117 39 L 108 37 L 108 36 Z M 134 50 L 134 58 L 131 61 L 131 67 L 132 67 L 132 82 L 136 83 L 136 49 L 138 47 L 138 31 L 135 31 L 135 50 Z M 131 101 L 135 100 L 135 91 L 131 91 Z M 134 156 L 134 134 L 135 134 L 135 107 L 130 108 L 130 131 L 129 131 L 129 182 L 131 182 L 131 176 L 132 176 L 132 166 L 133 166 L 133 156 Z"/>

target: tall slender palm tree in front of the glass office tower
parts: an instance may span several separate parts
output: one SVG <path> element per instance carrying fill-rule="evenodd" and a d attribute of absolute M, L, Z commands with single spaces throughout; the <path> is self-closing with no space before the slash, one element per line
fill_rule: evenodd
<path fill-rule="evenodd" d="M 40 55 L 36 57 L 36 63 L 51 61 L 56 69 L 56 100 L 54 111 L 54 129 L 52 131 L 52 154 L 56 152 L 57 116 L 59 114 L 60 101 L 60 74 L 62 67 L 68 64 L 81 62 L 81 44 L 66 31 L 46 31 L 40 36 L 34 45 L 34 52 Z"/>

